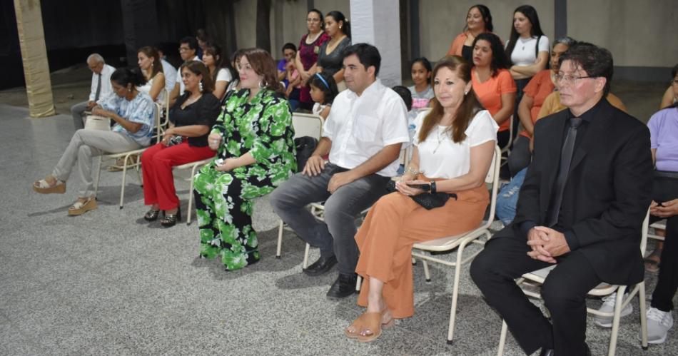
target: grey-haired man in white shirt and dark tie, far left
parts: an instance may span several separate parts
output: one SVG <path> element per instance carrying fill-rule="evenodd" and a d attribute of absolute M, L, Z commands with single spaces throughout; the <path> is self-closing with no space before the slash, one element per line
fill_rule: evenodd
<path fill-rule="evenodd" d="M 92 71 L 92 86 L 89 91 L 89 100 L 71 106 L 71 114 L 73 115 L 73 124 L 76 131 L 80 128 L 85 128 L 84 112 L 91 110 L 96 106 L 97 101 L 105 99 L 113 93 L 111 74 L 116 71 L 116 68 L 106 64 L 100 54 L 90 54 L 87 57 L 87 66 Z"/>

